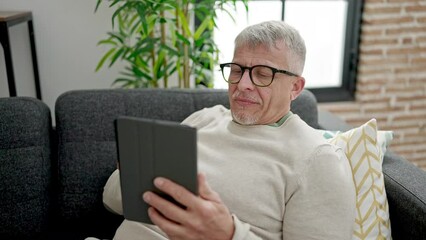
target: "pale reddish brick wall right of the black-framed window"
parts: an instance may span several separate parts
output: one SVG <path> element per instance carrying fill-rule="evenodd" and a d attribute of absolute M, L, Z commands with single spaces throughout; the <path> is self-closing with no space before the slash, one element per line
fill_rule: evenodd
<path fill-rule="evenodd" d="M 376 118 L 390 149 L 426 170 L 426 1 L 366 0 L 354 102 L 324 103 L 353 126 Z"/>

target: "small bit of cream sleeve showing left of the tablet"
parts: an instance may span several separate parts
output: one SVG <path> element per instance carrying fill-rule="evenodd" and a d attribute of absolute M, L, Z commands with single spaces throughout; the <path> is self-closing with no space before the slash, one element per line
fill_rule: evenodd
<path fill-rule="evenodd" d="M 123 205 L 121 201 L 120 172 L 115 170 L 109 177 L 104 187 L 103 202 L 109 211 L 123 215 Z"/>

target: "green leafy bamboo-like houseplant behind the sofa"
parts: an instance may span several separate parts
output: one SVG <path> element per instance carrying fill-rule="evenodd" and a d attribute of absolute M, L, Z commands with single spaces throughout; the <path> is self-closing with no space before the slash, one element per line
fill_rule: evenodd
<path fill-rule="evenodd" d="M 95 11 L 105 1 L 98 0 Z M 96 71 L 120 60 L 126 67 L 113 84 L 124 88 L 167 88 L 173 77 L 180 88 L 198 84 L 212 87 L 219 53 L 213 41 L 216 10 L 226 11 L 225 5 L 235 9 L 237 1 L 110 0 L 113 31 L 99 41 L 109 50 Z M 242 2 L 247 11 L 248 0 Z"/>

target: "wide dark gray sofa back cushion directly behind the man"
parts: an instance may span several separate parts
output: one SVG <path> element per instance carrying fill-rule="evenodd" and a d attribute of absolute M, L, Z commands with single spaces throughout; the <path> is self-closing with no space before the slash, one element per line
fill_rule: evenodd
<path fill-rule="evenodd" d="M 121 221 L 111 220 L 102 204 L 103 186 L 116 168 L 113 121 L 118 116 L 180 122 L 197 110 L 217 104 L 229 107 L 226 90 L 107 89 L 61 95 L 55 106 L 60 217 L 88 229 L 105 229 L 111 223 L 114 231 L 114 225 Z M 316 100 L 309 91 L 293 102 L 292 111 L 311 126 L 318 126 Z"/>

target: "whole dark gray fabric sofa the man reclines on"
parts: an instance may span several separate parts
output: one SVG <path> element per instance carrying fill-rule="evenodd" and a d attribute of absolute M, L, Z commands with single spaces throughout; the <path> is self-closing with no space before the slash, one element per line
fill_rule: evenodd
<path fill-rule="evenodd" d="M 103 186 L 116 167 L 120 115 L 182 121 L 223 104 L 224 90 L 79 90 L 50 109 L 28 97 L 0 98 L 0 239 L 111 239 L 121 216 L 105 210 Z M 309 91 L 293 112 L 315 128 L 350 126 L 317 110 Z M 384 159 L 394 239 L 425 239 L 426 172 L 391 152 Z"/>

